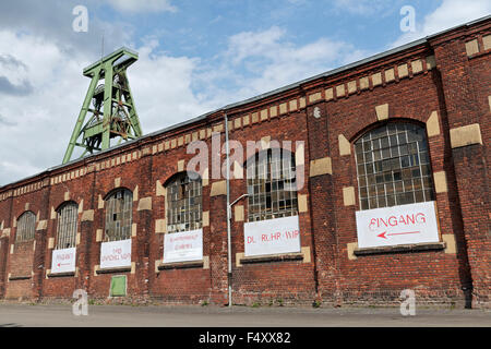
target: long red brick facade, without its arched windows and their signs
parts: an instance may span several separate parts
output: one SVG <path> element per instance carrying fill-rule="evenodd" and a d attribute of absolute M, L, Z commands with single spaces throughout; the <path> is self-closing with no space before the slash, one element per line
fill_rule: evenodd
<path fill-rule="evenodd" d="M 227 304 L 227 196 L 224 178 L 211 173 L 225 161 L 212 137 L 224 144 L 227 116 L 229 139 L 244 149 L 247 141 L 291 141 L 304 181 L 296 256 L 244 258 L 248 201 L 231 210 L 233 303 L 396 304 L 414 289 L 426 304 L 489 306 L 490 41 L 487 17 L 0 188 L 0 298 L 69 299 L 84 289 L 107 299 L 111 277 L 127 275 L 129 301 Z M 354 143 L 387 121 L 427 130 L 441 248 L 357 253 Z M 165 183 L 199 140 L 212 149 L 200 172 L 203 261 L 163 266 Z M 247 192 L 241 166 L 231 201 Z M 132 264 L 101 270 L 105 197 L 118 188 L 133 193 Z M 76 269 L 52 275 L 56 212 L 68 201 L 79 205 Z M 35 239 L 19 243 L 25 210 L 36 215 Z"/>

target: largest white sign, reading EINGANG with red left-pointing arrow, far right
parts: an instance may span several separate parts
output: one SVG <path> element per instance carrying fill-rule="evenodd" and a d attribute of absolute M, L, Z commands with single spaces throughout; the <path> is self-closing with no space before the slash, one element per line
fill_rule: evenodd
<path fill-rule="evenodd" d="M 358 210 L 358 248 L 439 242 L 435 203 Z"/>

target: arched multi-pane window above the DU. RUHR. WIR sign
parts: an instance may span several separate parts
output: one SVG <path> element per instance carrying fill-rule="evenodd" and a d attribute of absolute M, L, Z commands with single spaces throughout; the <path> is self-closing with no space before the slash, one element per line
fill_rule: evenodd
<path fill-rule="evenodd" d="M 298 214 L 295 156 L 267 149 L 247 163 L 249 221 Z"/>

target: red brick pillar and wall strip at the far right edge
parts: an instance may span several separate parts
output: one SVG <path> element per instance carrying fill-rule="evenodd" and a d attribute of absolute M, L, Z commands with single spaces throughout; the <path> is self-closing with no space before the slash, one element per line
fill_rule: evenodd
<path fill-rule="evenodd" d="M 475 305 L 489 304 L 491 280 L 490 213 L 490 100 L 491 61 L 484 51 L 482 35 L 489 35 L 490 23 L 468 32 L 456 33 L 458 39 L 438 41 L 435 57 L 442 77 L 442 88 L 448 116 L 448 127 L 459 128 L 478 123 L 483 144 L 452 149 L 462 208 L 463 230 L 471 268 L 472 301 Z M 468 57 L 465 43 L 478 38 L 479 53 Z"/>

